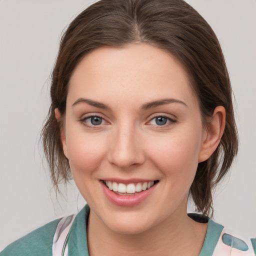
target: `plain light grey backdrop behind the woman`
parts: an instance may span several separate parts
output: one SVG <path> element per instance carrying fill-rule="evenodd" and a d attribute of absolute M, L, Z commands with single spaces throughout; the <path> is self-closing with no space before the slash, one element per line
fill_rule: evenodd
<path fill-rule="evenodd" d="M 0 250 L 85 203 L 72 183 L 56 199 L 38 139 L 61 31 L 92 2 L 0 0 Z M 239 153 L 216 190 L 214 219 L 255 237 L 256 1 L 188 2 L 220 40 L 237 102 Z"/>

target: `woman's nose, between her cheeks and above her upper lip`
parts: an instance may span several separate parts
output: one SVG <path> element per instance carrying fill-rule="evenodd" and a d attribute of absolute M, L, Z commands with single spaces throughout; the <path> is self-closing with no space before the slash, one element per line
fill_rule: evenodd
<path fill-rule="evenodd" d="M 108 161 L 121 169 L 140 165 L 145 160 L 142 144 L 142 136 L 133 125 L 120 125 L 109 141 Z"/>

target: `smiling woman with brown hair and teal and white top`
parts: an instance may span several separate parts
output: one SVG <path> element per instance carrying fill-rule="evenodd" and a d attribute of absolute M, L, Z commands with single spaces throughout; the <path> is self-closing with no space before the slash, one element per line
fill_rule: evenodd
<path fill-rule="evenodd" d="M 55 186 L 88 205 L 1 255 L 253 255 L 210 216 L 237 151 L 219 43 L 181 0 L 103 0 L 60 43 L 42 130 Z M 26 245 L 26 244 L 29 245 Z"/>

